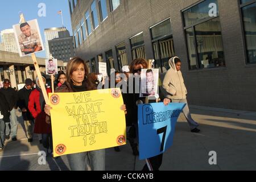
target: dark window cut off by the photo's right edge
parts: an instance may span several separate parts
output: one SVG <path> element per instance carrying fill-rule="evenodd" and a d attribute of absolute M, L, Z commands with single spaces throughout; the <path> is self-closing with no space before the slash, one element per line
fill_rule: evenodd
<path fill-rule="evenodd" d="M 243 32 L 246 44 L 246 63 L 256 63 L 256 1 L 241 0 Z"/>

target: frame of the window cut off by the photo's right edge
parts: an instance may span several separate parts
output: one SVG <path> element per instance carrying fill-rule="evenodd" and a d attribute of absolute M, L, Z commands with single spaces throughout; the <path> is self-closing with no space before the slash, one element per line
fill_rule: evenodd
<path fill-rule="evenodd" d="M 239 13 L 240 13 L 240 20 L 241 20 L 241 28 L 242 28 L 242 42 L 243 42 L 243 53 L 245 57 L 245 65 L 256 65 L 255 63 L 249 63 L 249 58 L 247 55 L 247 44 L 246 44 L 246 38 L 245 38 L 245 24 L 243 23 L 243 14 L 242 14 L 242 8 L 252 5 L 253 3 L 256 3 L 256 0 L 251 0 L 246 3 L 241 3 L 241 0 L 237 1 L 238 6 L 239 6 Z"/>

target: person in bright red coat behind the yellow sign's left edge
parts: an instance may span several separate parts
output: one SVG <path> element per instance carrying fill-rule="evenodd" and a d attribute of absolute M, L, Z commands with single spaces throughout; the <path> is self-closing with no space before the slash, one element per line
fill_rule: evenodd
<path fill-rule="evenodd" d="M 44 86 L 46 86 L 46 78 L 43 78 Z M 51 93 L 51 89 L 46 88 L 47 95 Z M 53 152 L 52 150 L 52 129 L 51 125 L 46 123 L 46 113 L 44 112 L 44 105 L 46 102 L 44 101 L 43 92 L 39 83 L 39 78 L 36 78 L 36 89 L 33 90 L 30 94 L 28 101 L 28 110 L 32 114 L 33 118 L 35 118 L 35 134 L 42 134 L 42 144 L 44 148 L 47 150 L 47 155 Z M 48 150 L 51 150 L 49 152 Z"/>

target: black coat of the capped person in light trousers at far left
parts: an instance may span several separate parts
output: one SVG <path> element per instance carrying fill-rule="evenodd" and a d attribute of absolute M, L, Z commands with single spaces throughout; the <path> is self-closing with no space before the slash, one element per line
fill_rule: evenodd
<path fill-rule="evenodd" d="M 6 107 L 8 107 L 7 109 L 13 110 L 13 108 L 17 106 L 18 92 L 10 87 L 7 89 L 1 88 L 0 92 L 5 96 L 8 102 L 8 105 L 6 105 Z"/>

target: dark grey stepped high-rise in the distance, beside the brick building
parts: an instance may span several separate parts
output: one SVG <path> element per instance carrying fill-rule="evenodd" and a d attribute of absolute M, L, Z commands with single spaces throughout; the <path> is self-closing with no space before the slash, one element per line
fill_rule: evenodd
<path fill-rule="evenodd" d="M 49 40 L 49 51 L 55 59 L 69 61 L 71 57 L 75 57 L 73 37 L 69 31 L 58 32 L 56 39 Z"/>

